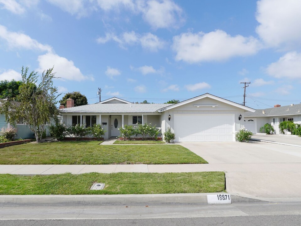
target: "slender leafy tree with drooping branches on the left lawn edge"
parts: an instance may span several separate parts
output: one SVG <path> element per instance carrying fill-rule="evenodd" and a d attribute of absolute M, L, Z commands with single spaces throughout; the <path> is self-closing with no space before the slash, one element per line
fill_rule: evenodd
<path fill-rule="evenodd" d="M 57 88 L 53 86 L 53 67 L 44 71 L 41 76 L 28 67 L 22 67 L 22 85 L 19 87 L 19 97 L 3 102 L 1 113 L 10 124 L 15 125 L 19 118 L 35 133 L 36 142 L 40 143 L 47 122 L 57 120 L 59 110 L 57 104 Z M 38 84 L 38 80 L 40 83 Z M 11 110 L 13 109 L 13 110 Z"/>

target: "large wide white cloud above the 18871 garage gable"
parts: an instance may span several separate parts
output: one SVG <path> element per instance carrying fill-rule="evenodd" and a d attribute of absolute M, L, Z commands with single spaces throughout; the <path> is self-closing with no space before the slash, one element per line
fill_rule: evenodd
<path fill-rule="evenodd" d="M 260 45 L 252 36 L 231 36 L 222 30 L 215 30 L 209 33 L 188 32 L 174 36 L 172 49 L 176 52 L 177 61 L 196 63 L 254 55 L 260 49 Z"/>

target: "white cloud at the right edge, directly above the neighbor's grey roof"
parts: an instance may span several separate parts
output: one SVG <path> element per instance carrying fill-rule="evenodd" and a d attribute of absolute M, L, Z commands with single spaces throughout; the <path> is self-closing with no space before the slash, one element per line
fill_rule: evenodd
<path fill-rule="evenodd" d="M 277 62 L 271 63 L 266 72 L 276 78 L 301 78 L 301 53 L 288 52 Z"/>

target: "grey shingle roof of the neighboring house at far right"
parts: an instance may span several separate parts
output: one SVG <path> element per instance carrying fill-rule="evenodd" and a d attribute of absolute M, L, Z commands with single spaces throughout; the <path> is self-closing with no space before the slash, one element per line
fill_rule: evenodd
<path fill-rule="evenodd" d="M 296 105 L 288 105 L 288 106 L 281 106 L 281 107 L 273 107 L 273 108 L 266 108 L 266 109 L 258 109 L 255 112 L 246 112 L 245 117 L 252 117 L 252 116 L 284 116 L 284 115 L 300 115 L 301 114 L 301 104 Z M 262 113 L 265 112 L 265 114 Z"/>

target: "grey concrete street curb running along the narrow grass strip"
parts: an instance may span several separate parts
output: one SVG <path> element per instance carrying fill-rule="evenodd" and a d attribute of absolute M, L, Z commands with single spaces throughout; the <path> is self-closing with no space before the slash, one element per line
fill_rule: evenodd
<path fill-rule="evenodd" d="M 220 193 L 146 194 L 146 195 L 0 195 L 0 205 L 208 205 L 207 195 Z M 234 202 L 253 199 L 231 196 Z M 239 197 L 239 198 L 238 198 Z M 260 200 L 257 200 L 260 202 Z"/>

